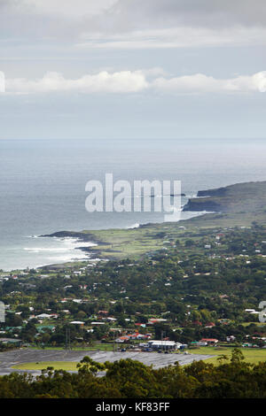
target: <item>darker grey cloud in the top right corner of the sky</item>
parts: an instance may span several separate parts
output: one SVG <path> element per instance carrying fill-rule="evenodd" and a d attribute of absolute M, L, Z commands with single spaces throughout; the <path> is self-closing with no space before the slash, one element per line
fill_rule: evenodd
<path fill-rule="evenodd" d="M 264 26 L 266 7 L 262 0 L 119 0 L 109 14 L 138 25 L 156 22 L 156 27 L 231 25 Z M 129 19 L 131 17 L 131 19 Z"/>

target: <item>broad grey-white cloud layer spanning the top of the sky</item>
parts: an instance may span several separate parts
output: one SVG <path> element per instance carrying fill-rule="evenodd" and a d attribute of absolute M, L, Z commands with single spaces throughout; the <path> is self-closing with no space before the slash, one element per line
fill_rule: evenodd
<path fill-rule="evenodd" d="M 94 49 L 265 44 L 262 0 L 0 0 L 2 37 Z"/>

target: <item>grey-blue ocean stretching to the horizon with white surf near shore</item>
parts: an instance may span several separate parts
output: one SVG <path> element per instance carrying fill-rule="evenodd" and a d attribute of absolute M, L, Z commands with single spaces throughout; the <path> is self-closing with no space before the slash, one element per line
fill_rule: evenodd
<path fill-rule="evenodd" d="M 266 180 L 263 140 L 0 140 L 0 268 L 84 258 L 71 240 L 32 238 L 59 230 L 163 221 L 156 212 L 85 210 L 87 181 L 180 180 L 199 189 Z"/>

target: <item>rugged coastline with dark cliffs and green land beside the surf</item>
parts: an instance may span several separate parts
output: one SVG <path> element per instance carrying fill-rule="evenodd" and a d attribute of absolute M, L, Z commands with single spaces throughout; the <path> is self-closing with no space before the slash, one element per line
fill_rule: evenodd
<path fill-rule="evenodd" d="M 265 195 L 266 181 L 238 183 L 220 189 L 199 190 L 196 197 L 187 196 L 183 212 L 191 215 L 176 222 L 149 222 L 126 228 L 98 230 L 64 230 L 39 235 L 42 238 L 73 239 L 76 243 L 74 250 L 80 250 L 85 257 L 73 255 L 67 261 L 51 261 L 33 268 L 62 267 L 76 261 L 90 263 L 96 259 L 143 258 L 149 252 L 167 250 L 166 240 L 173 243 L 176 238 L 184 238 L 195 228 L 248 227 L 254 220 L 265 223 Z M 210 211 L 210 207 L 215 209 Z"/>

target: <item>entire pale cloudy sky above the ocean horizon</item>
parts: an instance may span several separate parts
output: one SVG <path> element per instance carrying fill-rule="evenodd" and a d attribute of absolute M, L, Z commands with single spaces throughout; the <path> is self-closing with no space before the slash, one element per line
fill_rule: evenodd
<path fill-rule="evenodd" d="M 264 0 L 0 0 L 0 139 L 266 137 Z"/>

